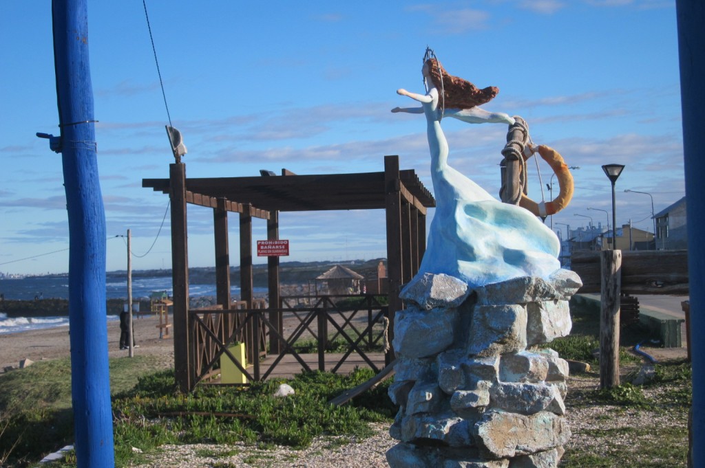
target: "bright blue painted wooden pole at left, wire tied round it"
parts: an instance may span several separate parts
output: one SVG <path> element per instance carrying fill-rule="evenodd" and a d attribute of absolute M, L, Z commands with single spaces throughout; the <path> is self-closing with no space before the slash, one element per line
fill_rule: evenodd
<path fill-rule="evenodd" d="M 114 467 L 105 304 L 106 229 L 88 62 L 87 0 L 53 0 L 54 68 L 68 210 L 71 400 L 78 467 Z"/>

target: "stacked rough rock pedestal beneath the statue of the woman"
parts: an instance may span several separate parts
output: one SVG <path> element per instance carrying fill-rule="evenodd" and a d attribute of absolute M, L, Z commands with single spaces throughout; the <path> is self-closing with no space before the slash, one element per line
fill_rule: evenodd
<path fill-rule="evenodd" d="M 580 277 L 521 277 L 468 289 L 417 275 L 401 293 L 393 346 L 400 405 L 391 468 L 554 468 L 570 437 L 568 363 L 546 347 L 570 332 Z"/>

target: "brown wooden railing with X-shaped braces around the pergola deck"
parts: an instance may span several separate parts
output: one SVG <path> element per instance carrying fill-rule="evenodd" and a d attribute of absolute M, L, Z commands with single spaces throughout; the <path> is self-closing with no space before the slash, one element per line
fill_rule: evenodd
<path fill-rule="evenodd" d="M 342 305 L 343 299 L 346 305 Z M 193 365 L 190 372 L 194 381 L 217 383 L 223 355 L 231 359 L 250 382 L 267 379 L 287 355 L 298 361 L 302 369 L 337 372 L 350 355 L 357 353 L 379 372 L 368 354 L 371 350 L 387 351 L 386 305 L 371 295 L 319 296 L 310 305 L 302 305 L 295 302 L 297 300 L 296 297 L 282 298 L 281 307 L 276 309 L 265 309 L 262 301 L 253 303 L 254 308 L 247 308 L 247 303 L 233 303 L 230 310 L 223 310 L 221 306 L 191 310 Z M 281 327 L 282 323 L 286 326 Z M 257 336 L 257 340 L 253 341 L 252 336 Z M 302 341 L 307 348 L 302 348 Z M 246 344 L 247 362 L 252 367 L 245 369 L 228 350 L 228 346 L 236 342 Z M 253 342 L 256 346 L 252 346 Z M 276 349 L 271 343 L 276 343 Z M 337 346 L 341 358 L 332 367 L 329 360 L 330 368 L 326 369 L 326 351 L 333 345 Z M 317 362 L 310 358 L 312 350 L 317 354 Z"/>

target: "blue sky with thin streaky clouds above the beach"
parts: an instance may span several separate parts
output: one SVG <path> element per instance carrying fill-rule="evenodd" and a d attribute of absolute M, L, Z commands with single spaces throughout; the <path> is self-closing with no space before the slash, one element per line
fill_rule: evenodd
<path fill-rule="evenodd" d="M 652 230 L 649 196 L 624 189 L 650 193 L 656 212 L 685 194 L 673 1 L 150 0 L 147 8 L 188 177 L 381 171 L 396 154 L 430 189 L 423 116 L 390 112 L 410 105 L 396 89 L 423 91 L 428 45 L 451 74 L 499 87 L 484 108 L 521 115 L 534 142 L 580 166 L 555 229 L 587 226 L 576 213 L 606 224 L 606 213 L 587 210 L 611 211 L 606 163 L 626 165 L 618 225 L 632 219 Z M 35 137 L 59 130 L 51 2 L 6 0 L 0 17 L 0 271 L 66 272 L 61 156 Z M 142 255 L 168 197 L 141 181 L 168 177 L 173 162 L 142 1 L 90 1 L 89 44 L 107 232 L 131 229 Z M 450 165 L 497 194 L 505 125 L 449 120 Z M 533 160 L 529 170 L 529 195 L 540 200 Z M 545 186 L 550 168 L 540 171 Z M 212 210 L 192 207 L 188 219 L 190 265 L 214 265 Z M 230 221 L 237 264 L 236 215 Z M 283 260 L 386 255 L 381 210 L 285 213 L 280 224 L 291 242 Z M 255 222 L 255 239 L 264 228 Z M 107 241 L 108 270 L 125 268 L 125 250 L 123 239 Z M 133 268 L 171 267 L 170 251 L 167 217 Z"/>

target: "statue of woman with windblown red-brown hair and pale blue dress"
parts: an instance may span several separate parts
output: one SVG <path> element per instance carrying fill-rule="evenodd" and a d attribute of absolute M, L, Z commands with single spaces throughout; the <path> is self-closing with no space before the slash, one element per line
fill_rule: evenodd
<path fill-rule="evenodd" d="M 477 107 L 494 98 L 498 89 L 477 89 L 470 82 L 451 77 L 436 58 L 424 63 L 422 74 L 426 94 L 405 89 L 397 91 L 419 101 L 421 107 L 392 109 L 395 113 L 424 113 L 427 120 L 436 210 L 419 274 L 450 274 L 471 287 L 515 277 L 548 277 L 560 268 L 556 234 L 529 211 L 497 201 L 448 165 L 448 141 L 441 129 L 442 116 L 470 123 L 512 124 L 514 120 L 509 115 Z M 441 80 L 442 95 L 439 93 Z M 455 86 L 455 80 L 461 82 L 459 87 Z"/>

